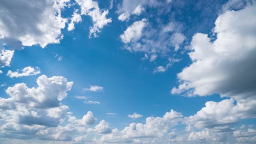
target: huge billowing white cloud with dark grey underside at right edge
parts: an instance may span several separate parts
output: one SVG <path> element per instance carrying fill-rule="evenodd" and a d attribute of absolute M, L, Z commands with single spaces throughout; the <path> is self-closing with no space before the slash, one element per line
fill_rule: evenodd
<path fill-rule="evenodd" d="M 193 51 L 189 53 L 193 63 L 177 75 L 180 85 L 172 89 L 173 94 L 219 93 L 243 103 L 253 100 L 256 94 L 256 76 L 252 72 L 256 61 L 255 9 L 255 5 L 250 5 L 219 15 L 214 28 L 217 37 L 213 42 L 207 34 L 194 35 L 190 46 Z"/>

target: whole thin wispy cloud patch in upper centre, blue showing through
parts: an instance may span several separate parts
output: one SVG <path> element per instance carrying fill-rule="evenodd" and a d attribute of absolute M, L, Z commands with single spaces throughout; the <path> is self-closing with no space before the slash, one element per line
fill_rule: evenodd
<path fill-rule="evenodd" d="M 176 52 L 185 40 L 180 24 L 168 22 L 164 25 L 159 22 L 157 25 L 153 25 L 146 19 L 143 20 L 145 21 L 133 23 L 124 34 L 120 35 L 125 44 L 124 49 L 130 52 L 143 52 L 147 55 L 172 57 L 173 52 Z M 174 47 L 176 47 L 176 51 Z"/>

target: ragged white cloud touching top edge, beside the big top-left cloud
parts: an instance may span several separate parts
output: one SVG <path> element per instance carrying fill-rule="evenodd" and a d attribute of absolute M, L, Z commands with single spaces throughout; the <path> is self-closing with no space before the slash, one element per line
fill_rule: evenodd
<path fill-rule="evenodd" d="M 101 29 L 108 23 L 112 22 L 111 18 L 107 18 L 108 10 L 101 10 L 98 7 L 98 2 L 92 0 L 75 0 L 81 9 L 81 15 L 89 15 L 94 23 L 93 27 L 90 27 L 90 35 L 98 37 L 97 33 L 100 33 Z"/>

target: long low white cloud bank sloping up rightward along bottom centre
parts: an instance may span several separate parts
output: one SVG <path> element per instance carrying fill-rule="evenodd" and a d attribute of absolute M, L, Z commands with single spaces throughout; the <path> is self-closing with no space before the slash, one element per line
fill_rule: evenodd
<path fill-rule="evenodd" d="M 182 114 L 171 110 L 162 117 L 148 117 L 146 123 L 131 123 L 123 130 L 113 129 L 111 134 L 103 135 L 100 142 L 134 142 L 136 139 L 154 138 L 164 136 L 170 128 L 181 121 Z"/>

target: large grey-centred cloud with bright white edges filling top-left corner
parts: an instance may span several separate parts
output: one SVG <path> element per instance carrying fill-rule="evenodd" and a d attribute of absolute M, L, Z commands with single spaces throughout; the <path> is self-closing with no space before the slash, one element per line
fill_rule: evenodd
<path fill-rule="evenodd" d="M 60 43 L 67 19 L 61 9 L 69 1 L 1 1 L 0 35 L 12 49 Z M 15 8 L 15 9 L 13 9 Z"/>

